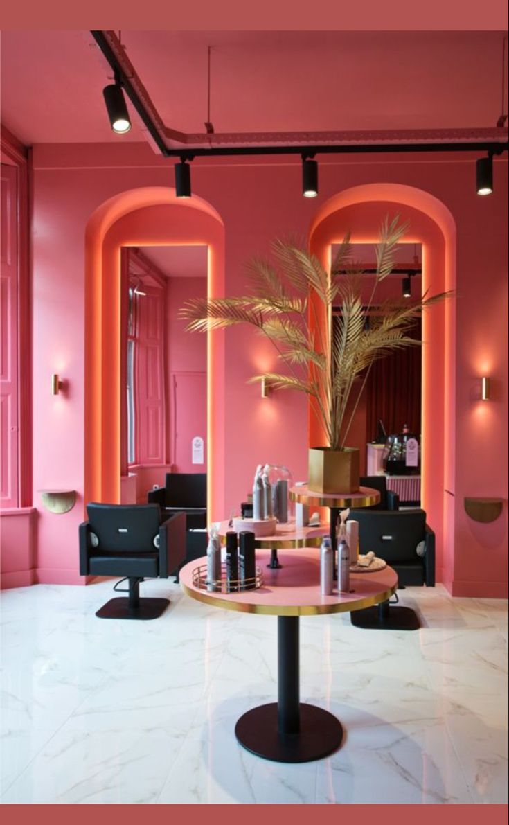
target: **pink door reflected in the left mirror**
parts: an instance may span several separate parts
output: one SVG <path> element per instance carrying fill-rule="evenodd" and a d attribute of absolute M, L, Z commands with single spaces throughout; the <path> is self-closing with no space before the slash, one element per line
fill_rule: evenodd
<path fill-rule="evenodd" d="M 207 471 L 207 374 L 172 375 L 173 464 L 176 473 Z"/>

